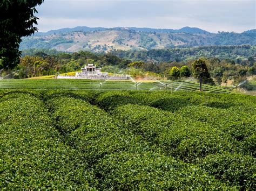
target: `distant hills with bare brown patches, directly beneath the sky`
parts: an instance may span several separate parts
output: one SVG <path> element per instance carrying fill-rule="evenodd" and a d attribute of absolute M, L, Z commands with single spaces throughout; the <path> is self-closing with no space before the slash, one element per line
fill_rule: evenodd
<path fill-rule="evenodd" d="M 73 31 L 77 30 L 77 31 Z M 209 33 L 198 28 L 184 27 L 180 30 L 148 28 L 104 29 L 83 27 L 63 29 L 23 38 L 20 49 L 54 48 L 57 51 L 109 52 L 118 50 L 150 50 L 174 47 L 197 47 L 209 45 L 255 45 L 256 31 L 243 33 Z M 69 32 L 72 31 L 72 32 Z"/>

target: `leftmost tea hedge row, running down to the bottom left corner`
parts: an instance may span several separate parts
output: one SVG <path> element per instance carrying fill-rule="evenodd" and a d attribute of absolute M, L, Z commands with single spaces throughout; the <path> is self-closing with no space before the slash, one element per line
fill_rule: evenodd
<path fill-rule="evenodd" d="M 2 189 L 89 188 L 86 162 L 62 143 L 44 104 L 9 93 L 0 100 Z"/>

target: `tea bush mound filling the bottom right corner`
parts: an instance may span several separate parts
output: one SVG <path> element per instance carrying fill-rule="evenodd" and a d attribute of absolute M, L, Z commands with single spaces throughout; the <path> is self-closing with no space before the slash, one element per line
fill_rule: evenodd
<path fill-rule="evenodd" d="M 198 164 L 215 178 L 240 189 L 255 190 L 255 158 L 237 153 L 208 155 Z"/>

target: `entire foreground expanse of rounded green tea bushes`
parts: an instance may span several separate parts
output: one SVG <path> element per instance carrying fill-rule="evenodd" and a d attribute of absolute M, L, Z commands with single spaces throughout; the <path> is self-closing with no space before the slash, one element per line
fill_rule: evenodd
<path fill-rule="evenodd" d="M 256 98 L 0 90 L 1 189 L 255 190 Z"/>

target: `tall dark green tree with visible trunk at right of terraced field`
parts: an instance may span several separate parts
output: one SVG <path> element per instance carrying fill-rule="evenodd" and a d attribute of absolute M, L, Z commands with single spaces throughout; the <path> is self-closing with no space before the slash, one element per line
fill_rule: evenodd
<path fill-rule="evenodd" d="M 203 79 L 210 78 L 206 62 L 203 59 L 195 60 L 192 63 L 193 76 L 199 80 L 199 90 L 202 91 L 202 81 Z"/>

